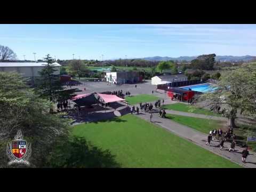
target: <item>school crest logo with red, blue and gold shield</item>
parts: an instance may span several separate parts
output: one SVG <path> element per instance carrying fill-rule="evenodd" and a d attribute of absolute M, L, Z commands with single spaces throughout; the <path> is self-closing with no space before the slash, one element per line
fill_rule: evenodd
<path fill-rule="evenodd" d="M 6 153 L 10 159 L 8 165 L 12 165 L 14 163 L 23 163 L 26 165 L 30 165 L 28 159 L 31 155 L 31 145 L 29 142 L 23 139 L 20 130 L 17 132 L 14 140 L 7 143 Z"/>

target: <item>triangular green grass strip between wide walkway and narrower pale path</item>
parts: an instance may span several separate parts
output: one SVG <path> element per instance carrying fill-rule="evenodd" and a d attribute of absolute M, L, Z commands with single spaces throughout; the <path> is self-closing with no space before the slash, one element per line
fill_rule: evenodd
<path fill-rule="evenodd" d="M 197 131 L 209 134 L 211 130 L 222 128 L 221 121 L 213 119 L 204 119 L 188 117 L 181 115 L 166 114 L 166 117 L 174 122 L 191 127 Z"/>

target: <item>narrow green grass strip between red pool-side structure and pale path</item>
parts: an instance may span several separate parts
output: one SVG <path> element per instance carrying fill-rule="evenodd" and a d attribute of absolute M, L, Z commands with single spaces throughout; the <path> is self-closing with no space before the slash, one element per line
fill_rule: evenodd
<path fill-rule="evenodd" d="M 211 116 L 219 116 L 221 117 L 220 114 L 214 113 L 213 111 L 204 109 L 204 108 L 199 108 L 191 105 L 186 105 L 184 103 L 174 103 L 174 104 L 169 104 L 169 105 L 164 105 L 162 106 L 164 109 L 169 109 L 169 110 L 177 110 L 177 111 L 182 111 L 182 112 L 187 112 L 187 113 L 195 113 L 195 114 L 203 114 L 203 115 L 211 115 Z"/>

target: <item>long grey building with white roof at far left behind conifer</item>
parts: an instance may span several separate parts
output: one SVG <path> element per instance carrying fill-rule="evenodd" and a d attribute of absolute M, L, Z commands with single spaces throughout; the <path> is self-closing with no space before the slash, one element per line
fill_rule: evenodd
<path fill-rule="evenodd" d="M 46 62 L 0 62 L 0 72 L 11 72 L 15 71 L 22 74 L 23 77 L 38 77 L 38 71 L 41 71 L 46 65 Z M 60 64 L 53 63 L 57 71 L 55 75 L 60 75 Z"/>

